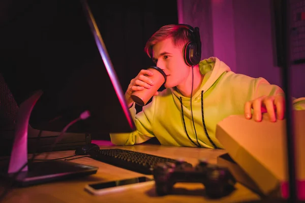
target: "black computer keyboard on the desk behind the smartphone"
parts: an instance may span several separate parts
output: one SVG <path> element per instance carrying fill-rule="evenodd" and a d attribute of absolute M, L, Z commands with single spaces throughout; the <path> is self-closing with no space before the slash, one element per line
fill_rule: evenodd
<path fill-rule="evenodd" d="M 177 162 L 177 160 L 175 159 L 124 149 L 100 149 L 97 151 L 89 152 L 89 155 L 93 159 L 102 161 L 104 163 L 108 163 L 145 175 L 151 175 L 154 170 L 154 167 L 159 162 Z M 187 164 L 192 166 L 192 164 L 190 163 Z"/>

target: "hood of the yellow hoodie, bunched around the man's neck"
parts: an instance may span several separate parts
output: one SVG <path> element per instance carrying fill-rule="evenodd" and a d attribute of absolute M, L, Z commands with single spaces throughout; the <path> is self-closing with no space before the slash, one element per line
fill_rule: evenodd
<path fill-rule="evenodd" d="M 202 80 L 200 89 L 197 92 L 193 92 L 193 98 L 200 96 L 201 91 L 206 92 L 223 73 L 231 71 L 230 67 L 217 57 L 204 59 L 199 62 L 198 66 L 200 73 L 205 77 Z M 176 88 L 171 88 L 171 91 L 177 97 L 189 99 L 178 92 Z"/>

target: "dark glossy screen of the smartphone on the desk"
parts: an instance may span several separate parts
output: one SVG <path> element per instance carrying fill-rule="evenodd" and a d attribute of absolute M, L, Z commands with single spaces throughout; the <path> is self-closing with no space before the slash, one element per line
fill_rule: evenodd
<path fill-rule="evenodd" d="M 90 187 L 94 188 L 95 190 L 123 186 L 123 185 L 131 185 L 136 183 L 144 183 L 147 181 L 153 181 L 153 179 L 149 179 L 146 177 L 138 177 L 138 178 L 131 178 L 131 179 L 124 179 L 124 180 L 117 180 L 111 181 L 106 183 L 96 183 L 96 184 L 89 184 Z"/>

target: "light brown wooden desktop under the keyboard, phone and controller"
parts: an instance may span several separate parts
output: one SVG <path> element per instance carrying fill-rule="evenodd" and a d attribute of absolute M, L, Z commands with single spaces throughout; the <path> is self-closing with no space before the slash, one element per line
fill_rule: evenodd
<path fill-rule="evenodd" d="M 113 146 L 110 142 L 94 141 L 101 149 L 121 148 L 169 158 L 184 158 L 186 161 L 197 164 L 199 158 L 206 158 L 211 163 L 217 162 L 217 156 L 224 154 L 225 150 L 202 148 L 172 147 L 160 145 Z M 50 153 L 48 159 L 71 156 L 74 151 L 60 151 Z M 44 154 L 37 157 L 44 158 Z M 92 195 L 84 190 L 85 184 L 106 182 L 126 178 L 143 176 L 142 174 L 124 170 L 87 157 L 71 160 L 77 163 L 98 166 L 97 174 L 84 178 L 53 182 L 26 188 L 13 188 L 3 202 L 240 202 L 259 199 L 259 196 L 241 184 L 236 184 L 236 190 L 229 196 L 209 200 L 203 196 L 203 185 L 199 183 L 177 183 L 174 194 L 157 196 L 154 182 L 136 189 L 129 188 L 125 191 L 114 192 L 102 196 Z M 152 178 L 152 176 L 147 176 Z M 3 187 L 1 188 L 1 192 Z"/>

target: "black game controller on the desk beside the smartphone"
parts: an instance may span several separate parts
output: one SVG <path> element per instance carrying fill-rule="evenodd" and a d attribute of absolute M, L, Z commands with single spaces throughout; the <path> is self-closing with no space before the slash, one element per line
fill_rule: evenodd
<path fill-rule="evenodd" d="M 234 190 L 235 178 L 225 167 L 208 164 L 204 160 L 193 167 L 183 161 L 158 163 L 153 171 L 156 192 L 166 195 L 172 192 L 177 182 L 202 183 L 206 196 L 220 198 Z"/>

